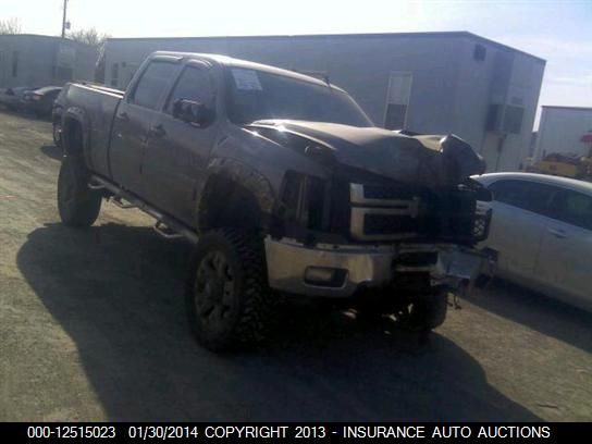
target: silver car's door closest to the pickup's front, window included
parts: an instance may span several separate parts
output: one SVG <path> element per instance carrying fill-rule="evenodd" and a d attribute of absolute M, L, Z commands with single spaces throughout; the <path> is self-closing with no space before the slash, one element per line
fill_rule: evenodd
<path fill-rule="evenodd" d="M 488 245 L 499 254 L 499 274 L 536 282 L 536 261 L 548 219 L 546 209 L 556 189 L 520 180 L 501 180 L 489 189 L 494 200 Z"/>

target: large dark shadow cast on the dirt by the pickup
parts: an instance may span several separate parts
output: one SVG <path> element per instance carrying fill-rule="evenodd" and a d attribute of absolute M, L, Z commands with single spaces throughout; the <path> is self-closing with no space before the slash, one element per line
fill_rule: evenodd
<path fill-rule="evenodd" d="M 295 306 L 268 348 L 210 354 L 185 321 L 188 254 L 115 224 L 41 227 L 18 252 L 112 420 L 539 420 L 447 338 L 417 347 L 340 312 Z"/>

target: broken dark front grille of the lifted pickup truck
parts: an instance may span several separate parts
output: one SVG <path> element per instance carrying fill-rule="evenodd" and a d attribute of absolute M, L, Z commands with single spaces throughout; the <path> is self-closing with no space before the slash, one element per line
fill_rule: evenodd
<path fill-rule="evenodd" d="M 491 218 L 476 208 L 474 193 L 458 188 L 350 184 L 350 235 L 359 240 L 474 243 L 486 237 Z"/>

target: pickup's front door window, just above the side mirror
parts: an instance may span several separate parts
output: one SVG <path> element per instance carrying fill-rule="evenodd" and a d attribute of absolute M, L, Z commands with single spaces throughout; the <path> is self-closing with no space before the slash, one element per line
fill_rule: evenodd
<path fill-rule="evenodd" d="M 214 108 L 213 79 L 206 67 L 187 66 L 181 74 L 176 85 L 166 101 L 165 112 L 173 112 L 173 103 L 178 99 L 187 99 Z"/>

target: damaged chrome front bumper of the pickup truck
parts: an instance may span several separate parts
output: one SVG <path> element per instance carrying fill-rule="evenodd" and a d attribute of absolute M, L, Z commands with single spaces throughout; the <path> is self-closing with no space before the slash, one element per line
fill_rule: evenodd
<path fill-rule="evenodd" d="M 317 245 L 266 238 L 272 288 L 299 295 L 349 297 L 359 287 L 387 286 L 397 273 L 428 272 L 430 284 L 458 286 L 491 276 L 495 258 L 454 245 Z"/>

